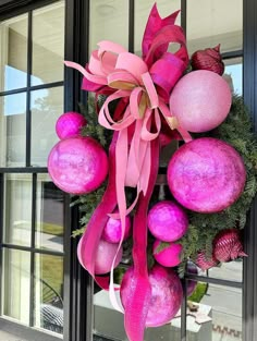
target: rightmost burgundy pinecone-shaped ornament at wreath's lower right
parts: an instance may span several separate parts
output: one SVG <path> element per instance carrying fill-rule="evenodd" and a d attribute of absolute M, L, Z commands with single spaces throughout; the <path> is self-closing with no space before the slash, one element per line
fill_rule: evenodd
<path fill-rule="evenodd" d="M 247 256 L 243 251 L 243 244 L 237 229 L 220 231 L 213 240 L 213 257 L 219 261 L 230 261 L 238 257 Z"/>

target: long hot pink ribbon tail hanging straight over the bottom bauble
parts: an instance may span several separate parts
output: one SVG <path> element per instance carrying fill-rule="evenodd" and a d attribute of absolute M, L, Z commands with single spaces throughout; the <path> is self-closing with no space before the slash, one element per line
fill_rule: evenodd
<path fill-rule="evenodd" d="M 155 187 L 159 168 L 159 138 L 151 143 L 151 171 L 149 185 L 144 196 L 140 193 L 133 227 L 133 259 L 130 300 L 125 307 L 124 324 L 130 341 L 143 341 L 147 312 L 150 304 L 151 288 L 147 270 L 147 210 Z"/>

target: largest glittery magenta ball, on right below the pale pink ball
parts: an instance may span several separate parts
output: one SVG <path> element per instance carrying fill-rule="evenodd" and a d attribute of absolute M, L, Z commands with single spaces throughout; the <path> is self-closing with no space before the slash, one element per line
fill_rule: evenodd
<path fill-rule="evenodd" d="M 203 137 L 174 153 L 167 178 L 171 193 L 182 206 L 210 214 L 228 208 L 240 197 L 246 171 L 233 147 Z"/>

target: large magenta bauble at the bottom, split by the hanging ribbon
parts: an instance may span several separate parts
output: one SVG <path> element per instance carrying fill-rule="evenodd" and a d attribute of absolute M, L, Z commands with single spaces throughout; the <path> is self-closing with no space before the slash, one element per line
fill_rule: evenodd
<path fill-rule="evenodd" d="M 130 297 L 130 290 L 133 278 L 133 268 L 124 275 L 121 283 L 121 301 L 124 306 Z M 151 285 L 150 304 L 146 318 L 146 327 L 163 326 L 176 315 L 181 307 L 183 290 L 178 275 L 160 265 L 154 266 L 149 271 Z"/>

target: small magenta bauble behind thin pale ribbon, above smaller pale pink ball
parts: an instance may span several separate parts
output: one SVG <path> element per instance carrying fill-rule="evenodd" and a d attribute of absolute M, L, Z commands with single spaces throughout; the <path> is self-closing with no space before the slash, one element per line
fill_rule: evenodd
<path fill-rule="evenodd" d="M 131 232 L 131 219 L 125 219 L 124 240 L 126 240 Z M 120 243 L 121 240 L 121 220 L 109 218 L 105 226 L 101 238 L 109 243 Z"/>

